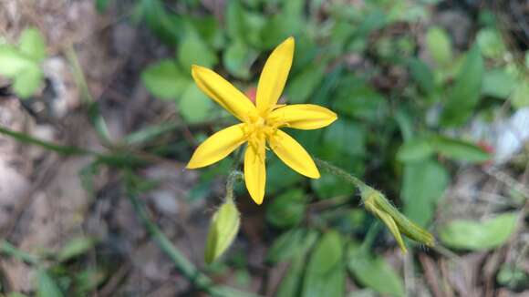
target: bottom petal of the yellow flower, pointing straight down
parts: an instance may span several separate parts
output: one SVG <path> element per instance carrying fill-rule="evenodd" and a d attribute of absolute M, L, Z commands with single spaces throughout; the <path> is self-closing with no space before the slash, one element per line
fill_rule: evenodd
<path fill-rule="evenodd" d="M 263 203 L 266 183 L 265 140 L 256 148 L 250 145 L 246 148 L 244 153 L 244 182 L 255 203 Z"/>

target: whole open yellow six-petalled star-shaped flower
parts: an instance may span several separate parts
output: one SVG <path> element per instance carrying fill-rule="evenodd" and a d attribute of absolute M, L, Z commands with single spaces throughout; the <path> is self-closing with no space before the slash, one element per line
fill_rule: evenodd
<path fill-rule="evenodd" d="M 294 38 L 289 37 L 275 48 L 266 61 L 259 78 L 255 105 L 213 70 L 192 66 L 192 77 L 197 86 L 242 123 L 224 128 L 207 138 L 194 151 L 188 169 L 211 165 L 247 142 L 244 182 L 255 203 L 261 204 L 265 198 L 266 145 L 290 168 L 309 178 L 319 178 L 316 164 L 305 148 L 279 128 L 322 128 L 335 121 L 337 115 L 327 108 L 311 104 L 277 105 L 293 56 Z"/>

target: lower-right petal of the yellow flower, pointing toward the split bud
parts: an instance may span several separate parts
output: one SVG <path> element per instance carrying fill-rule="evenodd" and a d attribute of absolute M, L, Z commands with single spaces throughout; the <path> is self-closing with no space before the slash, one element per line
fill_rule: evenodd
<path fill-rule="evenodd" d="M 291 169 L 295 169 L 306 177 L 319 179 L 319 171 L 314 160 L 294 138 L 281 130 L 277 130 L 275 136 L 269 138 L 268 142 L 275 155 Z"/>

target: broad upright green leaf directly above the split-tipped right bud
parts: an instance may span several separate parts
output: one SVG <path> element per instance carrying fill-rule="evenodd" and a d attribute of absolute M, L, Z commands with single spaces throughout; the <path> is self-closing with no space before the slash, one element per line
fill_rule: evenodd
<path fill-rule="evenodd" d="M 404 214 L 413 222 L 426 227 L 448 182 L 448 171 L 437 161 L 426 159 L 406 163 L 400 189 Z"/>

